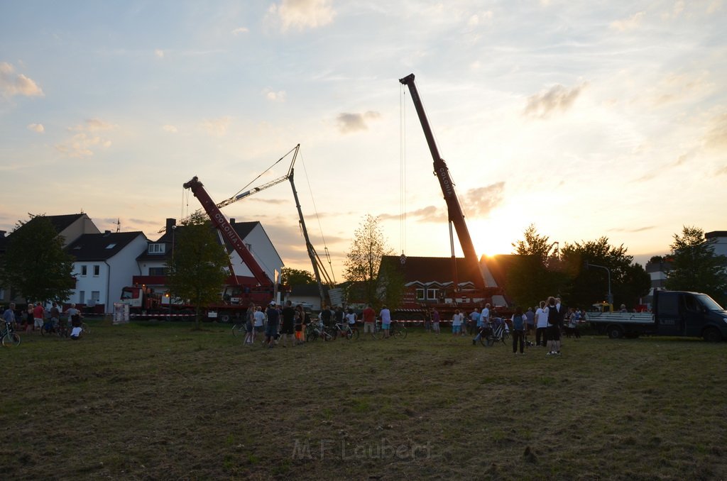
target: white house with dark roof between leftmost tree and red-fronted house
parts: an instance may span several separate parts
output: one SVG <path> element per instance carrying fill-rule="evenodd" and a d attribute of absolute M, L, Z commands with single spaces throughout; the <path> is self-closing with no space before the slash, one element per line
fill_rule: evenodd
<path fill-rule="evenodd" d="M 113 312 L 113 303 L 121 298 L 121 288 L 138 273 L 136 259 L 147 244 L 148 239 L 141 232 L 107 230 L 76 238 L 66 248 L 76 259 L 76 288 L 67 302 L 86 305 L 94 312 Z"/>

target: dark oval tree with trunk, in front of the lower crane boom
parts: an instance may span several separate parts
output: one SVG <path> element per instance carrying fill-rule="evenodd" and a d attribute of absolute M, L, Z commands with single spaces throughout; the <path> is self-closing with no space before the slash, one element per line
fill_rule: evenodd
<path fill-rule="evenodd" d="M 230 257 L 214 235 L 211 222 L 201 213 L 182 221 L 177 228 L 172 259 L 167 262 L 169 289 L 175 297 L 189 299 L 195 306 L 196 328 L 201 310 L 220 301 L 228 277 Z"/>

